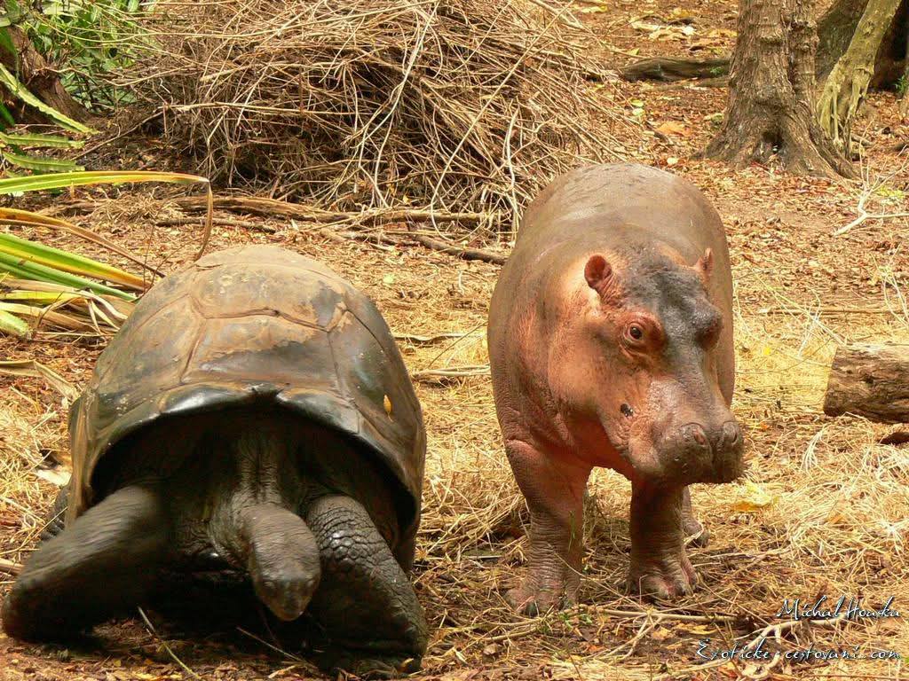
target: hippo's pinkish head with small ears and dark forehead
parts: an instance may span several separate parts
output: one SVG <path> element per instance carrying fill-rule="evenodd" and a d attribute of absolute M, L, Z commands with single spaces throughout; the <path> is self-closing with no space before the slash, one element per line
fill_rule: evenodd
<path fill-rule="evenodd" d="M 741 473 L 742 432 L 720 390 L 724 319 L 708 288 L 710 249 L 694 266 L 651 247 L 589 257 L 597 419 L 635 479 L 728 482 Z"/>

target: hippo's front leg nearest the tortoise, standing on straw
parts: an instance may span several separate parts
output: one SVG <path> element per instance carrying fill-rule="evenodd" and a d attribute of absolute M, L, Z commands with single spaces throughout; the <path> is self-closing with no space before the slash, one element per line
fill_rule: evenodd
<path fill-rule="evenodd" d="M 517 610 L 535 616 L 574 603 L 584 549 L 584 489 L 591 468 L 554 459 L 520 440 L 505 442 L 518 487 L 530 508 L 530 550 L 520 587 L 508 592 Z"/>

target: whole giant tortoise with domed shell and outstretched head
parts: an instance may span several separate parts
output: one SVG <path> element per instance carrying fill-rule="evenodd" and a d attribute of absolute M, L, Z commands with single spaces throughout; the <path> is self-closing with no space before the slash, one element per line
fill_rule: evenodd
<path fill-rule="evenodd" d="M 280 620 L 306 611 L 328 668 L 419 666 L 426 624 L 405 573 L 423 418 L 385 320 L 333 271 L 246 246 L 166 277 L 69 428 L 65 523 L 6 597 L 8 634 L 72 635 L 154 598 L 165 575 L 224 570 Z"/>

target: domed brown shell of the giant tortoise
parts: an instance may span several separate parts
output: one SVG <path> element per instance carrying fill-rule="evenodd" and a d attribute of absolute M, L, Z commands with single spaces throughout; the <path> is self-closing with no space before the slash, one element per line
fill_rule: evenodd
<path fill-rule="evenodd" d="M 159 282 L 101 354 L 70 410 L 67 521 L 96 500 L 117 442 L 165 416 L 275 405 L 343 431 L 401 483 L 419 518 L 425 430 L 381 313 L 325 265 L 276 246 L 205 256 Z"/>

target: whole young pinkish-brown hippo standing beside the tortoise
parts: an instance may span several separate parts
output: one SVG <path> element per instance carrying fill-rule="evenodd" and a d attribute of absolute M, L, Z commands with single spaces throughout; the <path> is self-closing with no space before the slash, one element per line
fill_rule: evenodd
<path fill-rule="evenodd" d="M 594 165 L 531 204 L 488 329 L 505 452 L 531 514 L 514 607 L 574 602 L 594 466 L 631 480 L 629 586 L 691 593 L 684 536 L 702 528 L 686 486 L 742 469 L 732 322 L 723 224 L 693 184 Z"/>

